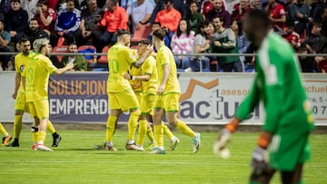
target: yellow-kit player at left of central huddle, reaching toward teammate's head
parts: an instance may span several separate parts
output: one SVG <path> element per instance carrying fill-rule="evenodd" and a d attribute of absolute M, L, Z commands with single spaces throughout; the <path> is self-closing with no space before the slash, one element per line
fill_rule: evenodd
<path fill-rule="evenodd" d="M 106 123 L 105 150 L 116 150 L 113 143 L 114 130 L 116 121 L 122 111 L 131 112 L 128 120 L 126 150 L 144 150 L 135 145 L 134 132 L 141 111 L 130 83 L 124 79 L 124 73 L 127 73 L 131 66 L 141 67 L 145 58 L 152 52 L 152 47 L 149 47 L 148 51 L 136 60 L 131 49 L 128 47 L 131 44 L 130 33 L 121 29 L 116 34 L 117 43 L 110 47 L 108 51 L 110 73 L 107 81 L 107 92 L 110 114 Z"/>

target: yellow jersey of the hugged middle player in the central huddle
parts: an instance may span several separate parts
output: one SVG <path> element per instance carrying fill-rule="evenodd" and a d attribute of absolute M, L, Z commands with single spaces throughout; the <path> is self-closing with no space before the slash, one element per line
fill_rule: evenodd
<path fill-rule="evenodd" d="M 150 79 L 148 81 L 142 82 L 143 92 L 155 94 L 156 90 L 158 89 L 158 74 L 154 56 L 150 55 L 147 57 L 142 64 L 141 69 L 143 75 L 150 75 Z"/>

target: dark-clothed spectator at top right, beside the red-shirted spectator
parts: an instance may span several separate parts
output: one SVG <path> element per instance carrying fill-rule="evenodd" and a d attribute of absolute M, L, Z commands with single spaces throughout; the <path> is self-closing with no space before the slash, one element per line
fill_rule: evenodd
<path fill-rule="evenodd" d="M 288 14 L 292 22 L 294 22 L 294 31 L 297 34 L 303 34 L 307 24 L 312 22 L 310 17 L 310 7 L 304 4 L 304 0 L 294 0 L 288 8 Z"/>

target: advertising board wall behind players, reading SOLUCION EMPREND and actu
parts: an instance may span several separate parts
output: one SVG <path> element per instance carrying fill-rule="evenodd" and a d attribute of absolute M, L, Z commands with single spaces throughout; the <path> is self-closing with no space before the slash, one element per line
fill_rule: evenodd
<path fill-rule="evenodd" d="M 105 122 L 108 114 L 108 73 L 65 73 L 49 81 L 50 119 L 57 123 Z M 224 124 L 250 92 L 254 73 L 179 73 L 180 117 L 192 125 Z M 304 89 L 312 102 L 317 125 L 327 125 L 327 77 L 303 74 Z M 15 72 L 0 73 L 0 121 L 14 121 Z M 291 91 L 292 89 L 290 89 Z M 244 124 L 261 125 L 263 105 Z M 126 121 L 123 114 L 119 121 Z M 32 121 L 27 114 L 23 121 Z"/>

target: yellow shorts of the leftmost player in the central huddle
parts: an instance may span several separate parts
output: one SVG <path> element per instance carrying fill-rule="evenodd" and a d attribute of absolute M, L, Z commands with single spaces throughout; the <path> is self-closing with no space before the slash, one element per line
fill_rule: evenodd
<path fill-rule="evenodd" d="M 110 110 L 130 111 L 140 107 L 133 91 L 108 92 L 108 99 Z"/>

